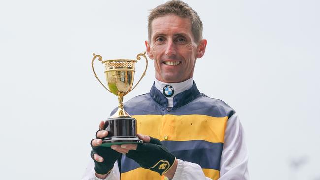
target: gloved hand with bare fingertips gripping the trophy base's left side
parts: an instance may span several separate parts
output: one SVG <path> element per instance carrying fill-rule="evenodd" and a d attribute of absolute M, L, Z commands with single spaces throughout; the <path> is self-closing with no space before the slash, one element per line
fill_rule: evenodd
<path fill-rule="evenodd" d="M 99 131 L 96 132 L 96 139 L 91 140 L 91 158 L 95 162 L 95 171 L 97 174 L 105 175 L 107 174 L 112 168 L 113 164 L 121 157 L 121 153 L 112 150 L 110 147 L 102 147 L 102 138 L 108 135 L 108 131 L 101 130 L 104 128 L 104 121 L 101 121 L 99 124 Z M 104 178 L 106 176 L 103 176 Z M 98 178 L 102 178 L 99 176 Z"/>

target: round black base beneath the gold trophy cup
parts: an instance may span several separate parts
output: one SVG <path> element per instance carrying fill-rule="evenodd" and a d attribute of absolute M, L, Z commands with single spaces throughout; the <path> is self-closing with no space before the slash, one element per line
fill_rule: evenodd
<path fill-rule="evenodd" d="M 108 136 L 102 139 L 104 147 L 122 144 L 137 144 L 143 141 L 137 137 L 137 120 L 131 117 L 108 118 L 105 122 L 105 129 Z"/>

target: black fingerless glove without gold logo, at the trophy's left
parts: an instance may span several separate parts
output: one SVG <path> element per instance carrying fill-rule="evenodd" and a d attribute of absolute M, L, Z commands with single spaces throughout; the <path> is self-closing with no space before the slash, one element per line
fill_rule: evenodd
<path fill-rule="evenodd" d="M 96 132 L 96 134 L 99 131 Z M 96 139 L 100 139 L 96 136 Z M 91 140 L 91 142 L 94 139 Z M 113 168 L 113 164 L 119 159 L 122 154 L 112 150 L 110 147 L 103 147 L 103 146 L 92 146 L 92 143 L 90 142 L 90 145 L 92 147 L 90 156 L 95 162 L 95 171 L 98 174 L 107 174 L 111 171 Z M 94 159 L 94 154 L 98 154 L 99 156 L 103 157 L 103 162 L 98 162 Z"/>

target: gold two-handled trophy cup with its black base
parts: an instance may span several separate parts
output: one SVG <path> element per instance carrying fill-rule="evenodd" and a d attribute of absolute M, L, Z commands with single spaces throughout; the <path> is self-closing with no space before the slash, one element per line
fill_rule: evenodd
<path fill-rule="evenodd" d="M 146 74 L 148 60 L 145 54 L 146 52 L 138 54 L 136 60 L 115 59 L 104 61 L 102 60 L 102 56 L 93 54 L 94 57 L 91 61 L 91 66 L 96 79 L 106 90 L 118 96 L 119 100 L 118 110 L 105 122 L 105 128 L 107 131 L 109 131 L 109 134 L 107 137 L 102 139 L 101 146 L 111 146 L 113 144 L 142 143 L 142 140 L 137 137 L 137 120 L 131 117 L 125 111 L 123 107 L 123 98 L 137 86 L 137 84 Z M 141 59 L 141 56 L 146 59 L 146 68 L 142 73 L 139 81 L 135 84 L 135 86 L 133 86 L 135 72 L 134 63 L 138 62 L 138 60 Z M 94 69 L 94 60 L 96 58 L 98 58 L 98 60 L 101 61 L 102 64 L 104 64 L 104 73 L 109 89 L 100 81 L 100 79 L 96 75 Z"/>

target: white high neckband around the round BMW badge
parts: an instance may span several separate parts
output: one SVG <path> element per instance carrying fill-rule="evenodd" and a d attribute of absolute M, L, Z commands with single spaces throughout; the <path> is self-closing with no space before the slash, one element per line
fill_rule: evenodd
<path fill-rule="evenodd" d="M 187 79 L 184 82 L 180 82 L 180 83 L 165 83 L 165 82 L 161 82 L 159 80 L 155 80 L 155 87 L 161 92 L 163 93 L 163 88 L 167 85 L 170 85 L 172 87 L 173 90 L 173 94 L 171 97 L 166 97 L 168 99 L 168 107 L 173 107 L 173 97 L 185 90 L 188 90 L 192 87 L 193 85 L 193 77 L 190 79 Z"/>

